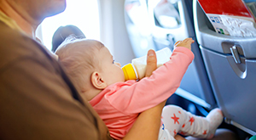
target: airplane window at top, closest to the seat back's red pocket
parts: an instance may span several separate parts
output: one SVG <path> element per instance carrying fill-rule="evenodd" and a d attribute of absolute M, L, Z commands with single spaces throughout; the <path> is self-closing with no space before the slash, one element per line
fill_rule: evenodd
<path fill-rule="evenodd" d="M 176 28 L 181 24 L 178 0 L 161 0 L 154 8 L 154 22 L 163 28 Z"/>

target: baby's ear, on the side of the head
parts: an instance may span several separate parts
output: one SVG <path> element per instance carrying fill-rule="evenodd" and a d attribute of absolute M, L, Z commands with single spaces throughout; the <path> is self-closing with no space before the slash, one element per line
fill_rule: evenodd
<path fill-rule="evenodd" d="M 103 81 L 102 75 L 97 71 L 92 73 L 92 75 L 90 76 L 90 81 L 92 85 L 97 89 L 104 89 L 108 86 L 107 83 Z"/>

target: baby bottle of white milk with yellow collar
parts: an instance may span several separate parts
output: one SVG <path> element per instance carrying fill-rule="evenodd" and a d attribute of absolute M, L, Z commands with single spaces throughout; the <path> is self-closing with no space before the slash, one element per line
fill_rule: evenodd
<path fill-rule="evenodd" d="M 170 48 L 163 48 L 156 51 L 157 67 L 165 64 L 172 55 Z M 131 63 L 125 64 L 122 67 L 125 75 L 125 81 L 127 80 L 139 80 L 145 76 L 147 66 L 147 56 L 141 58 L 132 59 Z"/>

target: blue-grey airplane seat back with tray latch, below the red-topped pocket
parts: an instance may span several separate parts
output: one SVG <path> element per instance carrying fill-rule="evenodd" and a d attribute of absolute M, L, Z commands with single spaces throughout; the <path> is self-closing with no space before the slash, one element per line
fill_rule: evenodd
<path fill-rule="evenodd" d="M 217 33 L 200 4 L 193 4 L 195 35 L 225 122 L 256 135 L 256 38 Z"/>

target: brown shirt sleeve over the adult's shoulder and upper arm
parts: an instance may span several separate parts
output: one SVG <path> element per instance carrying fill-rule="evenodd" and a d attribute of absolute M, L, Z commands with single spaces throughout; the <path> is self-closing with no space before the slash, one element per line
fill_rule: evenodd
<path fill-rule="evenodd" d="M 3 139 L 111 139 L 61 65 L 40 43 L 1 21 L 0 77 Z"/>

